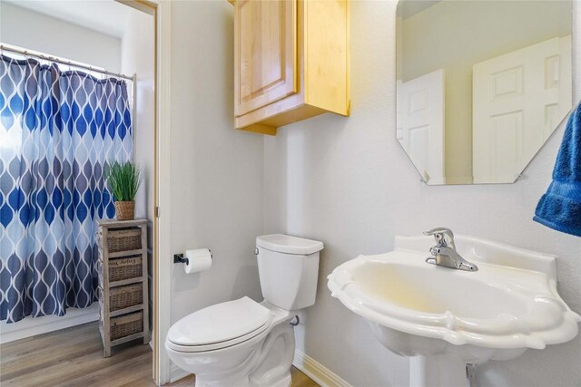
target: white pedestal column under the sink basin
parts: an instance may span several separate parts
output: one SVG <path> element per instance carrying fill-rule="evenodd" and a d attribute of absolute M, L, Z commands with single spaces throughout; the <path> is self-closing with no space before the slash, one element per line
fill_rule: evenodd
<path fill-rule="evenodd" d="M 410 387 L 468 387 L 466 363 L 445 354 L 409 358 Z"/>

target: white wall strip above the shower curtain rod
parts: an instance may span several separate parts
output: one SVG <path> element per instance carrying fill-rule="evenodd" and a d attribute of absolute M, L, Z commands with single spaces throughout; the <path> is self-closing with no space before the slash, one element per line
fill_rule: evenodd
<path fill-rule="evenodd" d="M 0 1 L 0 42 L 121 71 L 121 39 Z"/>

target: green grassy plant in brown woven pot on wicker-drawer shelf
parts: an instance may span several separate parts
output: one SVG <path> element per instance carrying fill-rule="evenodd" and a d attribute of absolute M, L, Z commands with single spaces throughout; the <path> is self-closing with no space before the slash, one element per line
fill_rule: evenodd
<path fill-rule="evenodd" d="M 117 220 L 135 218 L 135 195 L 142 184 L 143 173 L 132 161 L 113 162 L 105 173 L 105 179 L 113 194 Z"/>

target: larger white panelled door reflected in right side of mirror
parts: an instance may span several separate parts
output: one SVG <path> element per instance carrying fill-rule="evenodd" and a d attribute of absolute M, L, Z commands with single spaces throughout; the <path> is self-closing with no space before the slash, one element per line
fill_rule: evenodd
<path fill-rule="evenodd" d="M 511 183 L 555 131 L 572 103 L 570 36 L 473 67 L 475 183 Z"/>

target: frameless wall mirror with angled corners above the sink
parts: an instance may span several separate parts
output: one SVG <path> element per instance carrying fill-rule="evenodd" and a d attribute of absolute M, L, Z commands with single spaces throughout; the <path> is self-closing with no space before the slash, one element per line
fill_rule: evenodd
<path fill-rule="evenodd" d="M 428 185 L 512 183 L 573 104 L 571 1 L 397 9 L 397 138 Z"/>

